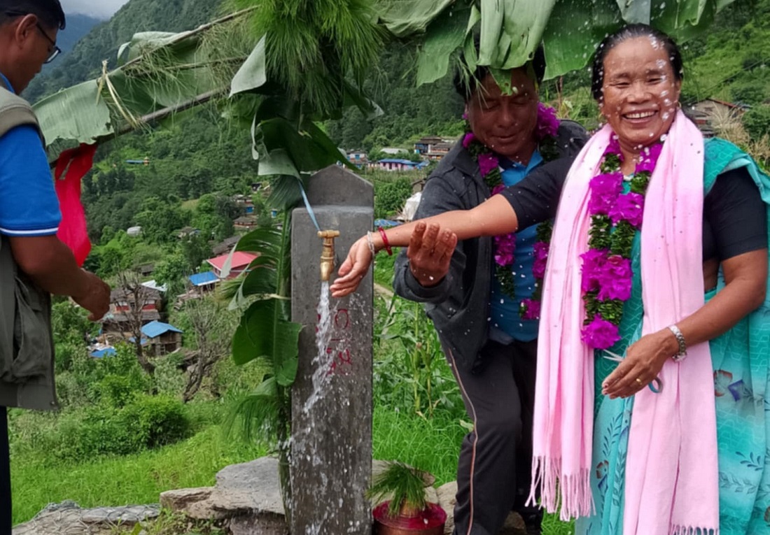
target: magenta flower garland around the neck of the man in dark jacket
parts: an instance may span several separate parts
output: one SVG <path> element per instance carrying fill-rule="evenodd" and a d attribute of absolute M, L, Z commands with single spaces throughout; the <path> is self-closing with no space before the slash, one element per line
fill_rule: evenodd
<path fill-rule="evenodd" d="M 480 142 L 470 125 L 466 125 L 467 133 L 463 138 L 463 146 L 476 159 L 481 177 L 490 188 L 492 195 L 503 191 L 503 176 L 500 173 L 500 159 L 487 146 Z M 559 119 L 556 110 L 537 103 L 537 125 L 535 126 L 535 138 L 538 142 L 541 156 L 544 161 L 550 162 L 558 157 L 556 146 L 556 133 L 559 129 Z M 532 273 L 535 277 L 535 291 L 531 299 L 524 299 L 519 307 L 522 319 L 538 319 L 540 317 L 540 299 L 542 295 L 545 265 L 548 259 L 548 244 L 551 242 L 553 222 L 544 222 L 537 226 L 537 242 L 534 244 L 535 261 Z M 495 276 L 502 286 L 503 293 L 511 299 L 515 299 L 514 275 L 511 266 L 514 263 L 516 251 L 516 234 L 506 234 L 494 237 L 494 262 L 496 264 Z"/>

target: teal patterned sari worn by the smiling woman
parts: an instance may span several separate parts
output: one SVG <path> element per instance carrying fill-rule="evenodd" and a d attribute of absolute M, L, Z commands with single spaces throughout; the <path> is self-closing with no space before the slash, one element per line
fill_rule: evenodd
<path fill-rule="evenodd" d="M 705 192 L 722 172 L 745 167 L 768 206 L 770 178 L 738 147 L 722 139 L 705 142 Z M 623 355 L 641 337 L 641 240 L 632 252 L 634 286 L 625 303 L 621 341 L 611 351 Z M 725 281 L 706 294 L 711 299 Z M 770 281 L 768 281 L 770 288 Z M 719 523 L 721 535 L 770 533 L 770 299 L 727 333 L 711 340 L 711 363 L 717 415 L 719 455 Z M 591 490 L 596 513 L 578 519 L 577 535 L 619 535 L 623 527 L 624 483 L 628 432 L 634 398 L 610 400 L 601 395 L 601 382 L 618 365 L 596 353 L 594 366 L 594 445 Z M 642 466 L 636 468 L 643 470 Z M 653 534 L 651 534 L 653 535 Z M 658 535 L 658 534 L 654 534 Z"/>

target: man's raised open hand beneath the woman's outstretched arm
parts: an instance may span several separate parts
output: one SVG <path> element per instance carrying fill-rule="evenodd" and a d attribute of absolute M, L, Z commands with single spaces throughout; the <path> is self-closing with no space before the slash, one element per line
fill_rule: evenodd
<path fill-rule="evenodd" d="M 457 236 L 436 224 L 418 222 L 407 249 L 409 269 L 420 286 L 436 286 L 449 273 Z"/>

